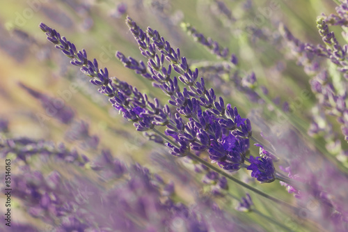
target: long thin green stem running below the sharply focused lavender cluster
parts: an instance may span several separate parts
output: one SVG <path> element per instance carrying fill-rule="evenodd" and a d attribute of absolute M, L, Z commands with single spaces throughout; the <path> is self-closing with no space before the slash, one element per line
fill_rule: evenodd
<path fill-rule="evenodd" d="M 165 134 L 162 134 L 161 132 L 159 132 L 158 130 L 156 130 L 155 128 L 152 129 L 153 132 L 159 134 L 159 136 L 161 136 L 163 139 L 165 139 L 166 141 L 168 141 L 168 143 L 171 143 L 173 146 L 177 146 L 180 147 L 178 144 L 176 144 L 174 141 L 172 141 L 171 139 L 169 139 L 168 137 L 166 137 Z M 233 176 L 230 176 L 230 174 L 226 173 L 225 171 L 223 171 L 222 169 L 215 167 L 214 165 L 210 164 L 209 162 L 203 160 L 202 158 L 198 157 L 197 155 L 194 155 L 193 153 L 187 152 L 186 153 L 187 156 L 191 157 L 192 160 L 196 160 L 196 162 L 200 162 L 201 164 L 204 164 L 205 166 L 209 167 L 209 169 L 212 169 L 214 171 L 216 171 L 217 173 L 219 173 L 221 176 L 225 176 L 226 178 L 228 178 L 229 180 L 232 180 L 233 182 L 237 183 L 238 185 L 242 185 L 242 187 L 245 187 L 248 190 L 251 190 L 252 192 L 255 192 L 255 194 L 259 194 L 260 196 L 263 196 L 266 199 L 269 199 L 271 201 L 274 201 L 278 204 L 280 204 L 281 206 L 286 206 L 287 208 L 290 208 L 290 210 L 294 210 L 296 212 L 296 210 L 298 210 L 295 206 L 290 205 L 290 203 L 287 203 L 285 201 L 282 201 L 280 199 L 276 199 L 273 196 L 270 196 L 269 194 L 266 194 L 258 189 L 256 189 L 255 187 L 251 187 L 250 185 L 242 182 L 241 180 L 238 180 L 237 178 L 234 178 Z"/>

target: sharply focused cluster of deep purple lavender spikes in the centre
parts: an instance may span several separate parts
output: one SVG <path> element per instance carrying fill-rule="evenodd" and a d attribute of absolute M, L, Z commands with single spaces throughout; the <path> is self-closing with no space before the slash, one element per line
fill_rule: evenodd
<path fill-rule="evenodd" d="M 56 44 L 58 49 L 73 59 L 71 63 L 81 67 L 89 77 L 92 84 L 101 86 L 98 91 L 109 97 L 109 101 L 119 111 L 122 111 L 124 118 L 136 122 L 136 129 L 139 131 L 155 130 L 155 125 L 166 126 L 165 134 L 174 139 L 166 146 L 172 149 L 176 156 L 187 155 L 191 150 L 207 150 L 209 158 L 219 164 L 219 167 L 237 171 L 244 164 L 246 153 L 248 153 L 251 137 L 251 122 L 239 116 L 237 108 L 230 104 L 226 105 L 223 98 L 216 100 L 214 90 L 205 88 L 204 79 L 198 80 L 198 69 L 191 71 L 187 59 L 180 56 L 180 49 L 175 50 L 170 43 L 159 36 L 156 30 L 148 28 L 146 33 L 130 18 L 127 17 L 127 25 L 134 38 L 139 44 L 141 54 L 148 58 L 148 68 L 144 63 L 138 62 L 131 57 L 126 58 L 120 52 L 116 57 L 125 67 L 135 70 L 139 75 L 150 79 L 153 85 L 161 88 L 164 93 L 171 97 L 168 102 L 173 105 L 177 113 L 171 115 L 168 105 L 161 107 L 159 100 L 149 102 L 148 96 L 139 92 L 136 88 L 121 82 L 115 77 L 109 78 L 106 68 L 98 70 L 97 61 L 88 61 L 86 52 L 77 52 L 76 47 L 70 41 L 61 37 L 54 29 L 45 24 L 40 24 L 42 31 L 47 33 L 47 38 Z M 152 40 L 152 42 L 150 42 Z M 156 49 L 161 52 L 159 56 Z M 170 64 L 164 67 L 164 61 Z M 171 78 L 171 70 L 175 70 L 178 78 Z M 188 86 L 180 91 L 178 80 Z M 201 108 L 206 108 L 203 111 Z M 189 118 L 185 122 L 183 118 Z M 263 163 L 262 163 L 263 164 Z M 265 165 L 265 164 L 264 164 Z M 267 168 L 258 166 L 260 169 Z M 274 169 L 269 172 L 269 181 L 274 180 Z M 256 175 L 257 177 L 259 175 Z"/>

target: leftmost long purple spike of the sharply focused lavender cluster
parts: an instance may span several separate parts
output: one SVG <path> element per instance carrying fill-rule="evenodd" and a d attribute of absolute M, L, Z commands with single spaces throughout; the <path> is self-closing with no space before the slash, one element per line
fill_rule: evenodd
<path fill-rule="evenodd" d="M 147 131 L 151 130 L 155 124 L 166 125 L 168 123 L 166 121 L 169 118 L 169 111 L 166 110 L 166 107 L 164 109 L 157 108 L 154 112 L 154 105 L 150 105 L 146 95 L 140 93 L 127 82 L 122 82 L 116 77 L 109 77 L 109 72 L 106 68 L 104 70 L 98 69 L 97 60 L 89 61 L 84 49 L 77 51 L 73 43 L 66 40 L 65 37 L 61 37 L 56 30 L 49 28 L 49 26 L 43 23 L 40 24 L 40 29 L 46 32 L 47 39 L 56 44 L 56 48 L 72 59 L 70 62 L 72 65 L 80 67 L 81 72 L 93 78 L 90 79 L 90 83 L 100 86 L 98 91 L 108 96 L 113 107 L 122 112 L 124 118 L 133 121 L 137 130 Z M 134 33 L 141 32 L 134 31 Z M 124 59 L 122 56 L 120 58 Z M 136 61 L 129 62 L 134 63 L 134 65 L 136 63 Z M 145 75 L 145 72 L 139 72 Z M 152 109 L 152 111 L 149 111 L 147 107 Z M 160 107 L 159 104 L 157 104 L 157 107 Z M 157 120 L 159 121 L 157 122 Z"/>

